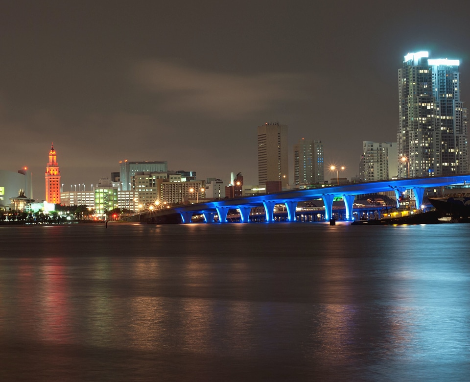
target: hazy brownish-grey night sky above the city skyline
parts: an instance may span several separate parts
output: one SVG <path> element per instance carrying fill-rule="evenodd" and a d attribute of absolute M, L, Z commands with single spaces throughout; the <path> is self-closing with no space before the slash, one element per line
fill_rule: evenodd
<path fill-rule="evenodd" d="M 54 142 L 65 191 L 125 159 L 256 185 L 257 126 L 279 121 L 291 180 L 300 138 L 350 178 L 362 141 L 396 142 L 406 53 L 460 59 L 470 100 L 469 17 L 470 1 L 3 0 L 0 169 L 29 167 L 42 200 Z"/>

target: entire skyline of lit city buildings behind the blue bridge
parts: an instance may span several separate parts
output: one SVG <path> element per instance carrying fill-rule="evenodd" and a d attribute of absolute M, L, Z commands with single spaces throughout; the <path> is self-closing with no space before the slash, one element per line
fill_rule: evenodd
<path fill-rule="evenodd" d="M 431 59 L 427 51 L 404 56 L 398 71 L 397 142 L 363 141 L 359 175 L 352 182 L 468 173 L 468 115 L 460 97 L 459 65 L 459 60 Z M 345 167 L 325 168 L 322 141 L 309 137 L 293 146 L 293 183 L 289 184 L 285 124 L 259 125 L 257 141 L 258 185 L 245 185 L 241 172 L 232 172 L 227 184 L 218 178 L 197 179 L 195 171 L 170 171 L 166 161 L 125 160 L 119 162 L 118 172 L 92 184 L 90 191 L 85 191 L 85 184 L 71 185 L 70 191 L 64 189 L 57 153 L 51 144 L 45 173 L 46 203 L 85 205 L 96 214 L 115 208 L 138 212 L 349 182 L 340 177 Z M 325 171 L 329 171 L 329 180 L 325 179 Z M 18 172 L 0 170 L 0 210 L 18 209 L 33 202 L 31 178 L 27 168 Z"/>

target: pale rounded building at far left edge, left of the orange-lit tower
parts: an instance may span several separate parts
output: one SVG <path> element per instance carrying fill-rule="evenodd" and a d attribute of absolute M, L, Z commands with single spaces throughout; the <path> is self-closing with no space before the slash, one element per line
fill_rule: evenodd
<path fill-rule="evenodd" d="M 32 199 L 31 172 L 26 167 L 17 172 L 0 170 L 0 211 L 11 209 L 10 199 L 18 196 L 20 190 Z"/>

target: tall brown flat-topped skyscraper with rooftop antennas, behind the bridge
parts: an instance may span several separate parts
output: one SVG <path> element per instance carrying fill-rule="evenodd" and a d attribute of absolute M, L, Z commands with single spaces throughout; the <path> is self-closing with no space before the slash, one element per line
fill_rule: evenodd
<path fill-rule="evenodd" d="M 258 184 L 281 181 L 282 188 L 289 182 L 287 154 L 287 125 L 279 122 L 258 126 Z"/>

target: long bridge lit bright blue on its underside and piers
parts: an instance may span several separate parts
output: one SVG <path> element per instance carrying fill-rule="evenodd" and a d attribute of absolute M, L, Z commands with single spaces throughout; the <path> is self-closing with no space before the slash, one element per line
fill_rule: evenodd
<path fill-rule="evenodd" d="M 274 206 L 284 204 L 287 210 L 287 219 L 295 220 L 297 203 L 313 199 L 323 199 L 325 205 L 325 218 L 332 217 L 333 199 L 341 197 L 345 204 L 346 220 L 352 220 L 352 204 L 356 195 L 395 191 L 397 203 L 400 195 L 406 190 L 413 190 L 417 206 L 423 204 L 423 195 L 426 189 L 450 185 L 470 185 L 470 174 L 455 176 L 436 176 L 425 178 L 410 178 L 397 180 L 383 180 L 378 182 L 357 183 L 340 186 L 329 186 L 306 190 L 289 190 L 256 196 L 244 196 L 233 199 L 213 200 L 206 203 L 176 206 L 165 210 L 154 210 L 141 214 L 141 221 L 150 220 L 164 215 L 179 214 L 183 223 L 190 223 L 193 215 L 204 215 L 204 221 L 214 222 L 217 215 L 220 223 L 227 222 L 229 210 L 238 210 L 241 221 L 248 222 L 250 212 L 254 207 L 264 207 L 265 220 L 274 220 Z"/>

